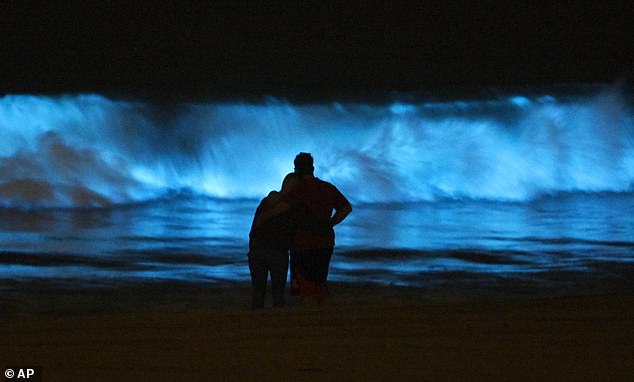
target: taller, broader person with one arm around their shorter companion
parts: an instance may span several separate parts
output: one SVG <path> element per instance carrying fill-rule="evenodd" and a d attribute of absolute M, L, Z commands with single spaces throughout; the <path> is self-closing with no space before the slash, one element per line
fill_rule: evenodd
<path fill-rule="evenodd" d="M 352 206 L 334 185 L 313 175 L 310 154 L 299 153 L 294 164 L 301 181 L 263 213 L 257 224 L 266 224 L 267 219 L 291 209 L 297 213 L 291 257 L 296 263 L 299 295 L 303 304 L 321 304 L 329 294 L 326 281 L 335 246 L 333 227 L 348 216 Z"/>

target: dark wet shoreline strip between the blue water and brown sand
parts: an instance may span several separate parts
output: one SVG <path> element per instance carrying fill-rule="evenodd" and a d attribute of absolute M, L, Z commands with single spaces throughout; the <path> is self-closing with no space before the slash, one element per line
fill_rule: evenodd
<path fill-rule="evenodd" d="M 579 276 L 579 275 L 577 275 Z M 453 277 L 430 280 L 427 287 L 378 283 L 329 282 L 328 305 L 420 305 L 531 302 L 557 298 L 596 298 L 634 294 L 627 280 L 596 277 L 560 283 L 513 279 Z M 272 309 L 270 281 L 265 310 Z M 182 281 L 119 282 L 83 285 L 76 280 L 24 280 L 0 283 L 0 322 L 19 317 L 73 317 L 143 314 L 179 310 L 250 311 L 248 282 L 204 284 Z M 285 295 L 284 309 L 298 308 L 297 296 Z"/>

